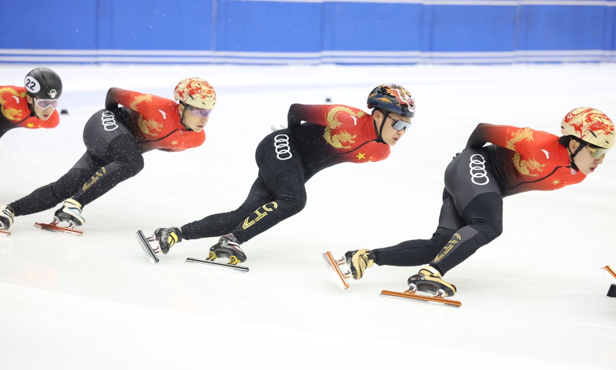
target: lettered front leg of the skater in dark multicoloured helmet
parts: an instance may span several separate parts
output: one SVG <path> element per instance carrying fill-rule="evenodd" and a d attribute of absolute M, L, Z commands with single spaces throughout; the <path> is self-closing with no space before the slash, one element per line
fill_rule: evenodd
<path fill-rule="evenodd" d="M 259 205 L 233 229 L 232 234 L 240 244 L 295 215 L 306 205 L 304 168 L 299 152 L 288 134 L 288 130 L 276 131 L 266 136 L 257 146 L 257 165 L 274 200 Z M 285 139 L 288 146 L 285 145 L 285 152 L 280 154 L 279 142 L 282 139 Z"/>

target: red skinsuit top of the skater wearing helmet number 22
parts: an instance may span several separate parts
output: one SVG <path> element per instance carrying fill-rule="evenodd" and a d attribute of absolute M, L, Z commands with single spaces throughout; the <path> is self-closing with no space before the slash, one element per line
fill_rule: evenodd
<path fill-rule="evenodd" d="M 46 121 L 36 117 L 28 103 L 26 89 L 17 86 L 0 86 L 0 112 L 0 138 L 17 127 L 54 128 L 60 123 L 57 110 Z"/>

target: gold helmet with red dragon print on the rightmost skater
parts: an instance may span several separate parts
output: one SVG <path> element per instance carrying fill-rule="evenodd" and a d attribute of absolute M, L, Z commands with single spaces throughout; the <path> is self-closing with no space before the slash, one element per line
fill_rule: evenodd
<path fill-rule="evenodd" d="M 572 135 L 594 146 L 611 149 L 614 147 L 614 123 L 601 110 L 580 107 L 573 109 L 562 118 L 561 132 Z"/>

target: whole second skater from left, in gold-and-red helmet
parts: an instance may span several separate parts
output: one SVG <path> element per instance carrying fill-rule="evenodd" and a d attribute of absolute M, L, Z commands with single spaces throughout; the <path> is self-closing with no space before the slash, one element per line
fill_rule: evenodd
<path fill-rule="evenodd" d="M 86 153 L 55 183 L 0 207 L 0 226 L 8 229 L 14 217 L 47 210 L 63 200 L 54 221 L 82 225 L 83 207 L 137 175 L 144 167 L 144 152 L 177 152 L 203 144 L 203 128 L 216 104 L 214 88 L 200 78 L 186 78 L 177 84 L 175 100 L 179 102 L 109 89 L 106 109 L 94 113 L 84 128 Z"/>

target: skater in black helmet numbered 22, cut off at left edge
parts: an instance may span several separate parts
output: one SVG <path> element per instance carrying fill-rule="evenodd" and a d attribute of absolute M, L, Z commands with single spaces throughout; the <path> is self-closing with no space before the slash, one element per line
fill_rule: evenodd
<path fill-rule="evenodd" d="M 60 123 L 55 108 L 62 81 L 49 68 L 34 68 L 24 87 L 0 86 L 0 138 L 14 128 L 54 128 Z"/>

